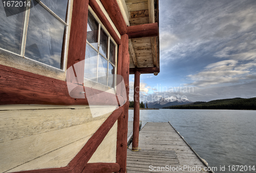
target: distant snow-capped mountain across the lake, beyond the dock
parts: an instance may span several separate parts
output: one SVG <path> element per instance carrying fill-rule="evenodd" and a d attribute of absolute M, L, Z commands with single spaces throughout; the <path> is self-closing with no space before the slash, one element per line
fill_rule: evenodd
<path fill-rule="evenodd" d="M 179 99 L 176 96 L 171 96 L 171 97 L 167 97 L 167 98 L 160 97 L 157 100 L 148 101 L 146 103 L 147 103 L 148 108 L 161 109 L 161 108 L 166 107 L 166 106 L 191 103 L 191 101 L 189 101 L 188 99 L 185 99 L 185 98 Z"/>

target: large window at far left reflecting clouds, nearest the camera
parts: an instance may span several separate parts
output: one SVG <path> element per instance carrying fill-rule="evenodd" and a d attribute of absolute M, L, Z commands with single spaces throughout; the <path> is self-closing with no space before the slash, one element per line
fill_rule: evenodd
<path fill-rule="evenodd" d="M 63 70 L 69 0 L 29 1 L 33 8 L 9 17 L 0 3 L 0 48 Z"/>

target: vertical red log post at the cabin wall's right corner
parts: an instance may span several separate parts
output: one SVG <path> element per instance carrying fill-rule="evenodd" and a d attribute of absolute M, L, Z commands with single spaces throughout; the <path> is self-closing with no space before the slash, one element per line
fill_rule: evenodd
<path fill-rule="evenodd" d="M 123 77 L 127 100 L 129 100 L 129 38 L 127 34 L 121 36 L 122 40 L 122 70 L 121 75 Z M 118 67 L 120 68 L 120 67 Z M 120 172 L 126 172 L 126 156 L 127 156 L 127 131 L 128 131 L 128 109 L 129 101 L 123 105 L 123 113 L 118 118 L 117 125 L 117 149 L 116 149 L 116 162 L 120 165 Z"/>

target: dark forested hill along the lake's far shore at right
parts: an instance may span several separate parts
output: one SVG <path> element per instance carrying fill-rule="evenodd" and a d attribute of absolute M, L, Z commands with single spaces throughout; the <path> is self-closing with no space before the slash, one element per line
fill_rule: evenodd
<path fill-rule="evenodd" d="M 256 110 L 256 97 L 197 101 L 186 105 L 165 106 L 164 109 Z"/>

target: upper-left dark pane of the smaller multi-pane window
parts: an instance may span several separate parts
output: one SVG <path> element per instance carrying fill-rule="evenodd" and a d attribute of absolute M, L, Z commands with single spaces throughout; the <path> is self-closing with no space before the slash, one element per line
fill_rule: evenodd
<path fill-rule="evenodd" d="M 87 23 L 87 41 L 98 50 L 98 28 L 99 24 L 94 19 L 92 13 L 88 13 L 88 23 Z"/>

